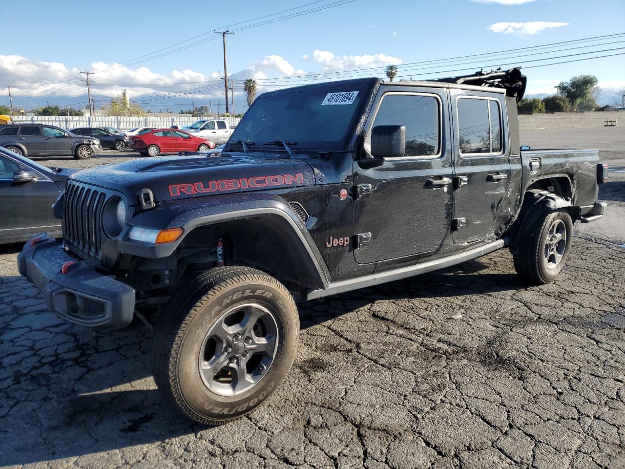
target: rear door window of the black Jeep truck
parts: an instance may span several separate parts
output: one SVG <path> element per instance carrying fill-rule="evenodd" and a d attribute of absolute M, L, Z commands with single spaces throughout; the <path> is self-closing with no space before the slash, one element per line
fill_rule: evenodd
<path fill-rule="evenodd" d="M 501 113 L 494 99 L 458 99 L 458 146 L 463 154 L 501 152 Z"/>

